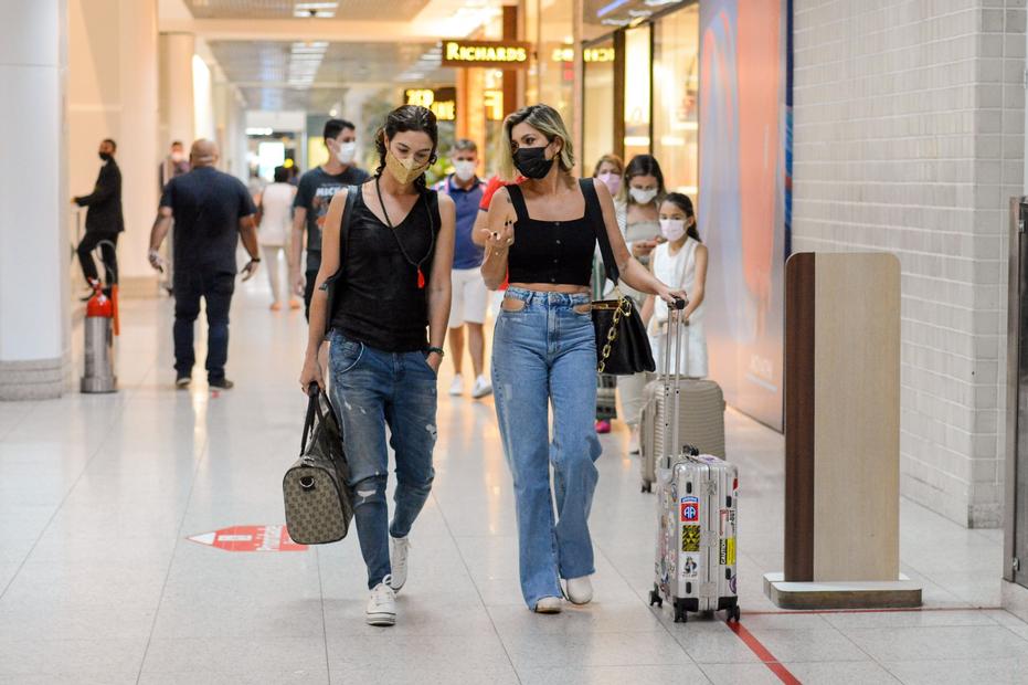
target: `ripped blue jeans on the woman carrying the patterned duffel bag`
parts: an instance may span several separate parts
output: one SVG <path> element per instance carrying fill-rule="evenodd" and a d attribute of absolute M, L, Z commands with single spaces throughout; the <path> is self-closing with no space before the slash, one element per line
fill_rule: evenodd
<path fill-rule="evenodd" d="M 346 442 L 353 518 L 370 589 L 391 572 L 389 536 L 406 537 L 432 489 L 438 379 L 422 352 L 381 351 L 338 330 L 329 340 L 329 391 Z M 392 525 L 385 503 L 386 426 L 396 456 Z"/>

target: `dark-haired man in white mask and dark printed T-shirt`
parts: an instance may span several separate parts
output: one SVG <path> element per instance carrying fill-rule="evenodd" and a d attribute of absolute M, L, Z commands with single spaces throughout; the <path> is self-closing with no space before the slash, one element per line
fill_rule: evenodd
<path fill-rule="evenodd" d="M 357 154 L 357 128 L 345 119 L 325 124 L 325 146 L 328 161 L 300 177 L 293 201 L 293 241 L 289 249 L 289 282 L 297 295 L 304 296 L 304 312 L 310 316 L 314 282 L 321 267 L 321 224 L 332 196 L 347 186 L 359 186 L 370 177 L 353 165 Z M 307 266 L 300 271 L 304 228 L 307 229 Z"/>

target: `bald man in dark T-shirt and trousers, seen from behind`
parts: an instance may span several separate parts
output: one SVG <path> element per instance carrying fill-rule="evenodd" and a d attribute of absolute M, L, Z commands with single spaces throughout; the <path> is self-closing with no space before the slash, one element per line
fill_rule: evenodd
<path fill-rule="evenodd" d="M 211 388 L 227 390 L 229 308 L 235 289 L 235 249 L 240 235 L 251 260 L 243 281 L 257 271 L 261 253 L 253 199 L 234 176 L 214 168 L 218 146 L 197 140 L 190 150 L 192 171 L 168 181 L 150 232 L 150 264 L 162 267 L 160 244 L 174 219 L 174 370 L 176 387 L 188 388 L 195 356 L 193 323 L 200 299 L 206 303 L 206 372 Z"/>

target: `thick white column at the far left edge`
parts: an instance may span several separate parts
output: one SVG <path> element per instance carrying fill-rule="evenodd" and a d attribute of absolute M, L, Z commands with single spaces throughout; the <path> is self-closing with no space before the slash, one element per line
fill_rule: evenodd
<path fill-rule="evenodd" d="M 66 20 L 63 0 L 0 0 L 0 400 L 66 386 Z"/>

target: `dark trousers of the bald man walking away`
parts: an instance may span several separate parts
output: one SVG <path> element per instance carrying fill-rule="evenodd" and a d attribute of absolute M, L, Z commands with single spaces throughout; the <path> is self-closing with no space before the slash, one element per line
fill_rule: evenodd
<path fill-rule="evenodd" d="M 200 316 L 200 299 L 206 306 L 209 381 L 225 377 L 229 359 L 229 308 L 235 291 L 232 272 L 206 272 L 179 267 L 174 274 L 174 370 L 189 376 L 197 361 L 193 322 Z"/>

